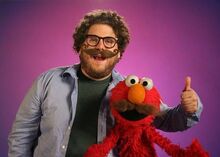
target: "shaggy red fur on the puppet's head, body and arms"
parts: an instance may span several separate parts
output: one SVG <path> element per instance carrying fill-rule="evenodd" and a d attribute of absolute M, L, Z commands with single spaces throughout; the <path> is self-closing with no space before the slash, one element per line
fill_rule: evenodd
<path fill-rule="evenodd" d="M 120 82 L 113 90 L 111 104 L 122 99 L 127 99 L 129 88 L 124 82 Z M 160 95 L 155 88 L 146 91 L 144 103 L 159 108 Z M 152 126 L 153 115 L 141 120 L 129 121 L 123 118 L 114 107 L 111 106 L 112 115 L 116 119 L 116 125 L 107 134 L 100 144 L 94 144 L 85 153 L 84 157 L 106 157 L 112 148 L 117 145 L 120 157 L 157 157 L 154 143 L 160 146 L 172 157 L 208 157 L 197 140 L 183 149 L 179 145 L 160 135 Z"/>

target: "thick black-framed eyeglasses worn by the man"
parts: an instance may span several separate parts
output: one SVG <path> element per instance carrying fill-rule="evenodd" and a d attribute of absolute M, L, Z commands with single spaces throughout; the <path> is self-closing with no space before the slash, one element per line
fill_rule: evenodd
<path fill-rule="evenodd" d="M 118 39 L 114 38 L 114 37 L 99 37 L 97 35 L 90 35 L 89 34 L 86 36 L 86 43 L 89 46 L 95 47 L 99 44 L 101 39 L 102 39 L 104 46 L 108 49 L 113 48 L 118 41 Z"/>

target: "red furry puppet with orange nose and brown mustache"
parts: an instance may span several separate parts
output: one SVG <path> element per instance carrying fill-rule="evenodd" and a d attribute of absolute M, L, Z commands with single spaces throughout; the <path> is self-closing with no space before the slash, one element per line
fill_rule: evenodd
<path fill-rule="evenodd" d="M 162 114 L 160 103 L 151 79 L 129 75 L 119 82 L 110 98 L 116 124 L 102 143 L 88 148 L 84 157 L 106 157 L 115 146 L 120 157 L 156 157 L 154 143 L 172 157 L 208 157 L 197 140 L 183 149 L 156 131 L 153 121 Z"/>

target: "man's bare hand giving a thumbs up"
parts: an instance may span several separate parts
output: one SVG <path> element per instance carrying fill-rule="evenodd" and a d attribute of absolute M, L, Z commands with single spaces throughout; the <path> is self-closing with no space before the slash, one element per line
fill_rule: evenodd
<path fill-rule="evenodd" d="M 193 114 L 198 110 L 198 97 L 191 88 L 191 78 L 189 76 L 185 79 L 185 88 L 181 94 L 181 105 L 188 114 Z"/>

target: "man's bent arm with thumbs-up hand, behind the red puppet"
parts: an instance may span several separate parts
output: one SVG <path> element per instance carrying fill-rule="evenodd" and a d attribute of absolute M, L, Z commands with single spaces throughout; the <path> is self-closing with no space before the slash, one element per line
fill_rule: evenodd
<path fill-rule="evenodd" d="M 161 103 L 161 111 L 164 115 L 157 117 L 154 125 L 164 131 L 183 131 L 198 123 L 203 105 L 191 88 L 191 78 L 186 77 L 185 88 L 181 93 L 181 104 L 175 108 L 169 108 Z"/>

